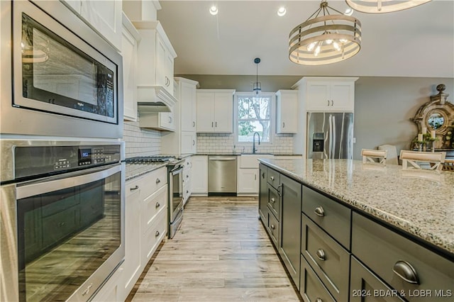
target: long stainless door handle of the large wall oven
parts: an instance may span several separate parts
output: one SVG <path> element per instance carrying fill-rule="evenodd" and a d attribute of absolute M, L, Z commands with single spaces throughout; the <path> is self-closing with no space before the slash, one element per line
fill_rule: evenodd
<path fill-rule="evenodd" d="M 93 181 L 98 181 L 110 177 L 118 172 L 121 172 L 123 164 L 115 164 L 101 168 L 94 168 L 85 171 L 85 174 L 74 175 L 72 173 L 59 175 L 57 177 L 46 177 L 38 182 L 33 181 L 31 184 L 24 184 L 23 186 L 17 186 L 16 188 L 16 199 L 27 198 L 30 196 L 37 196 L 52 191 L 58 191 L 61 189 L 72 188 L 82 184 L 89 184 Z"/>

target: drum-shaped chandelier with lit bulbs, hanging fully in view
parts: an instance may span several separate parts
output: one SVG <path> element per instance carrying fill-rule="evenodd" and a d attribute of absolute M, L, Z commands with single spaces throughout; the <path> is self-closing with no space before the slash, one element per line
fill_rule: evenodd
<path fill-rule="evenodd" d="M 340 62 L 356 55 L 360 48 L 360 21 L 328 6 L 326 0 L 289 34 L 289 59 L 301 65 Z"/>

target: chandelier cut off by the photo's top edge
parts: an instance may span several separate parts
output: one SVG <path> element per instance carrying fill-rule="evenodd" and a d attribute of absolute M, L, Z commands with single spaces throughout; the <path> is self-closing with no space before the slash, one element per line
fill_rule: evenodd
<path fill-rule="evenodd" d="M 345 0 L 348 6 L 362 13 L 390 13 L 402 11 L 430 2 L 431 0 Z"/>

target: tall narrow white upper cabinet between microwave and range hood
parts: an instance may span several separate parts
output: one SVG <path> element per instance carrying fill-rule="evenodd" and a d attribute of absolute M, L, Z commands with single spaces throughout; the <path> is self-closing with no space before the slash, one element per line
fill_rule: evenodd
<path fill-rule="evenodd" d="M 137 47 L 140 35 L 123 13 L 121 55 L 123 56 L 123 118 L 137 121 Z"/>

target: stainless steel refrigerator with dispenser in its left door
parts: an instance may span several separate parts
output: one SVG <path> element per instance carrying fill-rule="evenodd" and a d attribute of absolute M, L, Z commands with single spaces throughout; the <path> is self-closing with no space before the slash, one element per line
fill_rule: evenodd
<path fill-rule="evenodd" d="M 353 159 L 353 113 L 308 112 L 307 158 Z"/>

